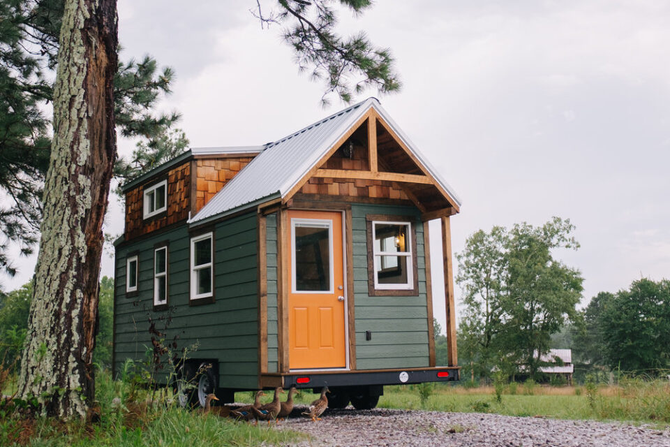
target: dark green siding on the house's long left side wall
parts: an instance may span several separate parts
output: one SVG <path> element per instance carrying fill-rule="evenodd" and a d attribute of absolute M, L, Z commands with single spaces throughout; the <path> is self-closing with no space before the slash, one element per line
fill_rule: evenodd
<path fill-rule="evenodd" d="M 119 247 L 116 254 L 115 369 L 126 358 L 142 360 L 151 346 L 149 319 L 178 350 L 198 345 L 189 358 L 217 359 L 219 386 L 258 385 L 258 255 L 256 214 L 216 224 L 214 228 L 214 297 L 211 304 L 189 305 L 190 241 L 188 228 L 148 237 Z M 170 311 L 153 311 L 154 244 L 170 241 L 168 302 Z M 137 296 L 126 297 L 126 257 L 137 252 Z M 172 320 L 165 328 L 168 315 Z M 161 379 L 161 378 L 159 378 Z"/>

